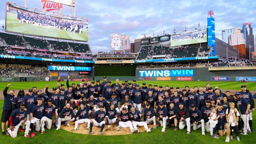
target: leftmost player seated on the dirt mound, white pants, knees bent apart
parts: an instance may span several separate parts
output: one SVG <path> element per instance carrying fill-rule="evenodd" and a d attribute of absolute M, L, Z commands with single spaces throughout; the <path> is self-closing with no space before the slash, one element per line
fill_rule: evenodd
<path fill-rule="evenodd" d="M 84 104 L 80 104 L 80 110 L 78 110 L 75 117 L 79 117 L 79 120 L 75 122 L 75 128 L 72 129 L 72 131 L 78 130 L 78 124 L 82 124 L 84 122 L 87 123 L 87 130 L 90 128 L 90 119 L 89 119 L 89 110 L 90 107 L 84 108 Z"/>

